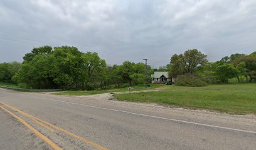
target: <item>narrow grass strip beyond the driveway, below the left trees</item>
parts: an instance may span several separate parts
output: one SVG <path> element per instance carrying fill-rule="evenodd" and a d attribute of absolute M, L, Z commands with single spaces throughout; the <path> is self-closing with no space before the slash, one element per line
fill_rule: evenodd
<path fill-rule="evenodd" d="M 159 88 L 161 86 L 164 86 L 164 84 L 151 84 L 151 88 L 147 89 L 155 89 Z M 144 85 L 139 86 L 132 86 L 131 91 L 141 91 L 145 90 Z M 119 88 L 119 89 L 108 89 L 108 90 L 99 90 L 99 91 L 63 91 L 60 93 L 54 93 L 56 95 L 70 95 L 70 96 L 83 96 L 83 95 L 92 95 L 92 94 L 102 94 L 102 93 L 116 93 L 116 92 L 129 92 L 128 87 L 125 88 Z"/>

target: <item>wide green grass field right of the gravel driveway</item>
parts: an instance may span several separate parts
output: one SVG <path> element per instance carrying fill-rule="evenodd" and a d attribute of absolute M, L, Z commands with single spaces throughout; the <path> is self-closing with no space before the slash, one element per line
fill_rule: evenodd
<path fill-rule="evenodd" d="M 159 92 L 116 94 L 120 101 L 158 103 L 232 114 L 256 114 L 256 83 L 206 87 L 164 86 Z"/>

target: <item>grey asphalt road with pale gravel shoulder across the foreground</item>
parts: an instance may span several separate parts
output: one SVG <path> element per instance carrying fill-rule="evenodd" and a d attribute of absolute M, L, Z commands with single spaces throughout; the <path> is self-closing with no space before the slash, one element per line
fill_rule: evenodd
<path fill-rule="evenodd" d="M 255 115 L 235 116 L 110 101 L 100 96 L 55 96 L 1 88 L 0 102 L 5 109 L 0 109 L 0 149 L 56 148 L 10 113 L 61 149 L 256 149 Z"/>

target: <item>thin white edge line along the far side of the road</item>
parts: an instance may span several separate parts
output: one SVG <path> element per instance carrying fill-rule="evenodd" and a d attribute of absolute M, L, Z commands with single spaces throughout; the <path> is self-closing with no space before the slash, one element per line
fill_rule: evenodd
<path fill-rule="evenodd" d="M 41 98 L 41 97 L 37 97 L 37 96 L 29 96 L 29 97 Z M 137 116 L 145 116 L 145 117 L 149 117 L 149 118 L 164 119 L 164 120 L 169 120 L 169 121 L 175 121 L 175 122 L 178 122 L 178 123 L 196 124 L 196 125 L 199 125 L 199 126 L 207 126 L 207 127 L 211 127 L 211 128 L 227 129 L 227 130 L 232 130 L 232 131 L 240 131 L 240 132 L 243 132 L 243 133 L 256 134 L 255 131 L 247 131 L 247 130 L 243 130 L 243 129 L 227 128 L 227 127 L 214 126 L 214 125 L 202 124 L 202 123 L 194 123 L 194 122 L 190 122 L 190 121 L 182 121 L 182 120 L 178 120 L 178 119 L 163 118 L 163 117 L 151 116 L 151 115 L 147 115 L 147 114 L 132 113 L 132 112 L 129 112 L 129 111 L 120 111 L 120 110 L 117 110 L 117 109 L 102 108 L 102 107 L 98 107 L 98 106 L 90 106 L 90 105 L 87 105 L 87 104 L 72 103 L 72 102 L 60 101 L 60 100 L 56 100 L 56 99 L 48 99 L 48 98 L 41 98 L 41 99 L 46 99 L 46 100 L 50 100 L 50 101 L 57 101 L 57 102 L 60 102 L 60 103 L 68 103 L 68 104 L 75 104 L 75 105 L 80 105 L 80 106 L 87 106 L 87 107 L 90 107 L 90 108 L 98 108 L 98 109 L 105 109 L 105 110 L 109 110 L 109 111 L 117 111 L 117 112 L 122 112 L 122 113 L 127 113 L 127 114 L 135 114 Z"/>

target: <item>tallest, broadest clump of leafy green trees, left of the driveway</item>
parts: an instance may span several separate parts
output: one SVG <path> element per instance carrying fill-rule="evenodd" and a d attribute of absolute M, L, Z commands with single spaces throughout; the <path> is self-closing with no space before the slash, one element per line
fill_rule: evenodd
<path fill-rule="evenodd" d="M 13 80 L 26 88 L 93 89 L 107 81 L 107 65 L 97 53 L 82 53 L 77 47 L 34 48 Z"/>

